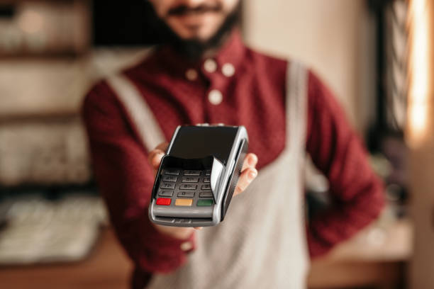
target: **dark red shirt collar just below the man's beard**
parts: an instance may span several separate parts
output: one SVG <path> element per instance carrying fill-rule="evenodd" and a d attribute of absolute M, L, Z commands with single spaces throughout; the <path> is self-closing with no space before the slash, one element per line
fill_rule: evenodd
<path fill-rule="evenodd" d="M 184 57 L 184 55 L 180 55 L 169 46 L 160 47 L 155 57 L 157 57 L 157 61 L 162 64 L 169 74 L 185 77 L 189 69 L 195 69 L 197 72 L 201 72 L 204 77 L 208 78 L 210 75 L 206 72 L 206 69 L 204 69 L 207 60 L 211 59 L 216 62 L 217 67 L 215 73 L 222 73 L 222 68 L 225 64 L 231 64 L 235 68 L 235 71 L 237 71 L 243 62 L 245 50 L 246 47 L 241 38 L 240 30 L 235 28 L 230 33 L 228 40 L 226 40 L 216 55 L 212 57 L 204 57 L 201 60 L 192 61 Z"/>

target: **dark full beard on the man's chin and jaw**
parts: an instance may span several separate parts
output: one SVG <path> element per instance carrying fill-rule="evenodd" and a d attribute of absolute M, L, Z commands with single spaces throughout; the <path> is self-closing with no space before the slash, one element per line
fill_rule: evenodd
<path fill-rule="evenodd" d="M 165 23 L 165 21 L 157 17 L 155 11 L 153 11 L 153 17 L 155 17 L 155 19 L 153 19 L 154 23 L 151 28 L 155 29 L 157 32 L 157 44 L 169 45 L 173 50 L 189 58 L 189 60 L 198 60 L 204 55 L 204 52 L 208 50 L 216 50 L 226 42 L 230 32 L 240 23 L 240 11 L 241 5 L 238 4 L 238 6 L 236 6 L 235 9 L 226 16 L 216 33 L 214 33 L 208 40 L 186 40 L 180 38 L 179 35 L 177 35 L 177 33 L 175 33 L 174 30 Z"/>

